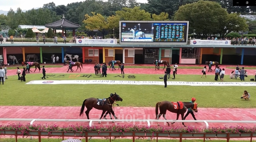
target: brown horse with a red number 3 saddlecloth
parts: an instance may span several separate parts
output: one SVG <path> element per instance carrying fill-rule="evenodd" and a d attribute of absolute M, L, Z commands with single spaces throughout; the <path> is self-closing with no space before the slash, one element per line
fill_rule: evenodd
<path fill-rule="evenodd" d="M 195 112 L 197 112 L 197 105 L 198 103 L 190 103 L 190 102 L 182 102 L 182 101 L 178 101 L 178 102 L 170 102 L 170 101 L 161 101 L 156 103 L 156 119 L 158 120 L 159 117 L 161 117 L 163 115 L 164 119 L 165 115 L 166 115 L 166 111 L 168 110 L 169 112 L 172 113 L 177 113 L 177 118 L 176 120 L 178 120 L 179 116 L 182 116 L 182 120 L 184 120 L 184 113 L 187 111 L 187 108 L 191 108 L 192 110 L 194 110 Z M 158 114 L 158 108 L 160 110 L 160 113 Z M 172 122 L 171 124 L 173 124 L 175 122 Z M 168 126 L 170 126 L 169 122 L 167 122 Z M 158 122 L 157 125 L 159 126 Z M 184 125 L 184 123 L 182 122 L 182 125 Z M 184 125 L 185 126 L 185 125 Z"/>

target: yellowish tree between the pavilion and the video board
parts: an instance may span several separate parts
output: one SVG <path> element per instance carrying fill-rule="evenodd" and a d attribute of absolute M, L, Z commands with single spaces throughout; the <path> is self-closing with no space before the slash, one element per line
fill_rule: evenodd
<path fill-rule="evenodd" d="M 118 27 L 119 25 L 119 17 L 118 16 L 109 16 L 104 17 L 101 14 L 95 14 L 95 12 L 92 12 L 92 16 L 86 14 L 85 20 L 83 21 L 86 26 L 86 29 L 89 30 L 99 30 L 104 35 L 106 32 L 114 27 Z"/>

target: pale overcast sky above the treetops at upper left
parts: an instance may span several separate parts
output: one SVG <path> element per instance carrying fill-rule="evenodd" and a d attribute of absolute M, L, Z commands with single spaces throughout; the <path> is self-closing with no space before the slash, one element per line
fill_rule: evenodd
<path fill-rule="evenodd" d="M 17 10 L 20 7 L 22 10 L 29 10 L 36 7 L 43 7 L 43 4 L 54 2 L 55 5 L 67 5 L 71 2 L 81 2 L 84 0 L 1 0 L 0 10 L 9 11 L 10 8 Z M 145 3 L 147 0 L 137 0 L 137 2 Z"/>

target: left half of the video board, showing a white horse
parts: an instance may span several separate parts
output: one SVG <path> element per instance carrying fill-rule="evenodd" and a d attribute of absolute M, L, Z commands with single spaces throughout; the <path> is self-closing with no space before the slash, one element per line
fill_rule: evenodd
<path fill-rule="evenodd" d="M 153 30 L 152 23 L 123 23 L 121 39 L 123 42 L 153 42 Z"/>

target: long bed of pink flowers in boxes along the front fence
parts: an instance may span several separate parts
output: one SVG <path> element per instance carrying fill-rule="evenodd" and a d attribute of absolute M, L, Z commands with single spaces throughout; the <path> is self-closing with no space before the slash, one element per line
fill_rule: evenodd
<path fill-rule="evenodd" d="M 233 134 L 234 137 L 251 137 L 251 134 L 256 134 L 256 127 L 211 127 L 211 128 L 195 128 L 195 127 L 165 127 L 165 126 L 143 126 L 143 125 L 109 125 L 109 126 L 92 126 L 89 125 L 22 125 L 21 123 L 13 123 L 9 125 L 0 125 L 0 134 L 12 134 L 15 135 L 15 131 L 18 135 L 29 136 L 37 135 L 40 132 L 41 135 L 66 135 L 66 136 L 147 136 L 154 137 L 154 133 L 157 133 L 159 137 L 227 137 Z M 11 133 L 12 132 L 12 133 Z M 210 136 L 211 134 L 211 136 Z M 242 136 L 241 134 L 244 134 Z M 250 134 L 250 135 L 249 135 Z M 184 135 L 184 136 L 183 136 Z M 197 137 L 196 136 L 196 137 Z M 255 135 L 256 136 L 256 135 Z"/>

